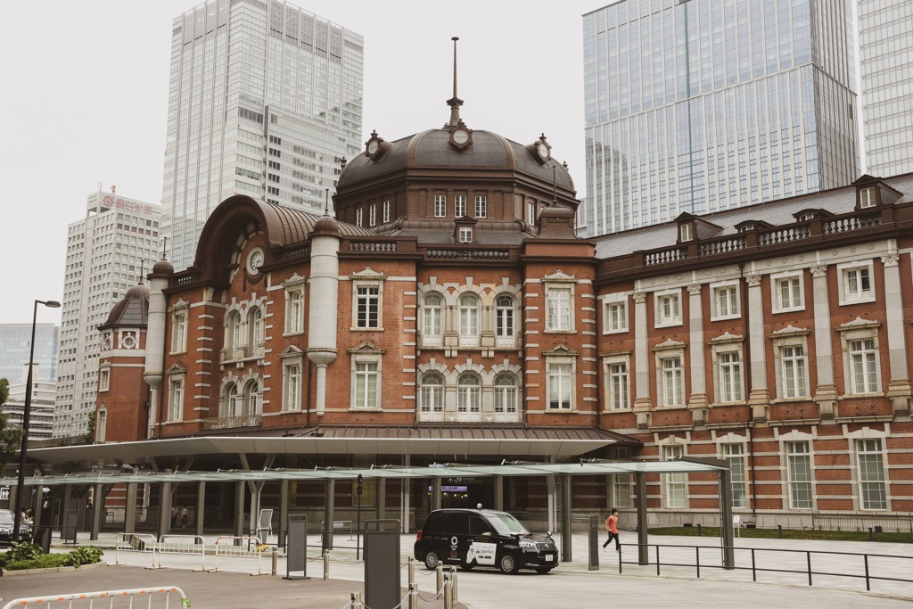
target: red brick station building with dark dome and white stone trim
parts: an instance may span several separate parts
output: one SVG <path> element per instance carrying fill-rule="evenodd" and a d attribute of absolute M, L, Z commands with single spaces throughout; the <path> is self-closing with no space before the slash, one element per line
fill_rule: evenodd
<path fill-rule="evenodd" d="M 373 133 L 335 218 L 220 205 L 194 266 L 149 276 L 144 383 L 118 310 L 100 327 L 97 441 L 208 438 L 151 459 L 179 470 L 718 457 L 761 526 L 913 509 L 913 176 L 584 240 L 545 136 L 472 131 L 460 103 L 443 129 Z M 554 507 L 540 480 L 443 484 L 445 504 Z M 414 522 L 428 490 L 369 500 Z M 307 510 L 324 488 L 262 492 Z M 712 476 L 663 474 L 645 500 L 678 523 L 717 497 Z M 627 475 L 574 481 L 574 509 L 636 499 Z"/>

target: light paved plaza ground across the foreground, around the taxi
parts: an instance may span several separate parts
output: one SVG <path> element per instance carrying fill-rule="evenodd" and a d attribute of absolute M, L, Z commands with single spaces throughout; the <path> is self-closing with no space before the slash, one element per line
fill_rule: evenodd
<path fill-rule="evenodd" d="M 560 543 L 560 537 L 556 538 Z M 105 549 L 104 560 L 108 564 L 104 566 L 27 576 L 6 573 L 0 579 L 0 597 L 3 598 L 0 607 L 19 597 L 163 585 L 182 588 L 192 601 L 193 609 L 342 609 L 349 604 L 352 593 L 363 593 L 364 564 L 355 560 L 355 541 L 346 534 L 335 537 L 327 580 L 323 579 L 324 562 L 320 558 L 319 547 L 308 548 L 307 574 L 310 579 L 286 580 L 282 578 L 286 574 L 286 564 L 281 556 L 277 559 L 277 575 L 270 574 L 272 554 L 269 550 L 257 557 L 218 557 L 216 563 L 216 557 L 209 553 L 162 554 L 153 558 L 150 552 L 115 551 L 115 541 L 115 534 L 103 533 L 95 542 Z M 206 536 L 206 547 L 212 549 L 215 541 L 215 535 Z M 275 537 L 270 541 L 275 542 Z M 316 543 L 319 537 L 310 535 L 309 541 Z M 401 536 L 400 562 L 403 568 L 400 578 L 404 587 L 408 583 L 406 561 L 412 555 L 413 541 L 413 534 Z M 622 531 L 623 543 L 633 544 L 635 541 L 635 533 Z M 908 544 L 736 539 L 735 557 L 739 568 L 724 571 L 719 568 L 721 551 L 718 538 L 654 536 L 650 542 L 664 544 L 660 550 L 662 562 L 690 566 L 664 565 L 657 575 L 655 564 L 635 564 L 635 548 L 627 545 L 622 552 L 624 562 L 621 573 L 619 555 L 611 548 L 600 549 L 600 568 L 591 570 L 587 537 L 574 534 L 573 560 L 561 562 L 548 575 L 520 572 L 509 576 L 484 569 L 457 571 L 458 601 L 466 609 L 563 609 L 607 604 L 713 607 L 749 603 L 776 606 L 778 609 L 913 606 L 913 583 L 873 580 L 871 592 L 866 593 L 866 582 L 861 578 L 813 574 L 813 586 L 809 586 L 805 572 L 760 571 L 805 570 L 811 560 L 813 572 L 816 573 L 861 575 L 865 572 L 865 559 L 855 554 L 869 552 L 868 567 L 871 575 L 911 579 L 913 552 Z M 80 534 L 79 543 L 88 545 L 88 535 Z M 678 547 L 665 547 L 673 544 Z M 694 548 L 696 545 L 702 546 L 699 551 Z M 755 549 L 754 564 L 759 569 L 756 583 L 751 581 L 752 573 L 749 569 L 752 548 Z M 54 551 L 66 549 L 55 540 Z M 654 559 L 655 551 L 651 548 L 651 560 Z M 898 558 L 879 558 L 875 554 Z M 701 563 L 699 578 L 693 566 L 696 556 L 699 556 Z M 162 568 L 150 568 L 159 565 Z M 218 572 L 204 571 L 211 570 L 216 565 Z M 420 592 L 420 608 L 439 609 L 444 606 L 443 599 L 435 599 L 434 572 L 428 572 L 424 565 L 416 564 L 415 582 Z M 124 602 L 123 606 L 128 604 Z M 146 606 L 146 601 L 143 601 L 142 606 Z M 150 606 L 165 605 L 152 603 Z M 169 606 L 178 604 L 172 600 Z"/>

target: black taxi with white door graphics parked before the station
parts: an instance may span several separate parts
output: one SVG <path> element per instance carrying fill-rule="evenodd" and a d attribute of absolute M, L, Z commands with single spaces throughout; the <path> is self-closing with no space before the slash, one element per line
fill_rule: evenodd
<path fill-rule="evenodd" d="M 444 562 L 467 571 L 496 567 L 505 573 L 547 573 L 558 566 L 558 548 L 551 533 L 533 535 L 506 511 L 436 509 L 415 538 L 415 560 L 429 570 Z"/>

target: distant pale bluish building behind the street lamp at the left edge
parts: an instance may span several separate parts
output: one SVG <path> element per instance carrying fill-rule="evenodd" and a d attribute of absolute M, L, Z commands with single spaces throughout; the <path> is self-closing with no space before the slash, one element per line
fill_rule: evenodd
<path fill-rule="evenodd" d="M 0 323 L 0 378 L 11 385 L 25 381 L 28 373 L 32 324 Z M 35 368 L 37 381 L 57 381 L 60 328 L 53 323 L 35 324 Z"/>

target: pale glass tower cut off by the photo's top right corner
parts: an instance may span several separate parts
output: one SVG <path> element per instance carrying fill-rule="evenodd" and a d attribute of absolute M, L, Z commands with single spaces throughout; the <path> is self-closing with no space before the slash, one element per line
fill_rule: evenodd
<path fill-rule="evenodd" d="M 913 172 L 913 3 L 859 0 L 866 172 Z"/>

